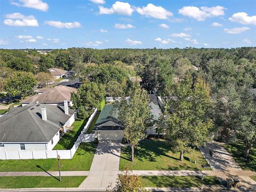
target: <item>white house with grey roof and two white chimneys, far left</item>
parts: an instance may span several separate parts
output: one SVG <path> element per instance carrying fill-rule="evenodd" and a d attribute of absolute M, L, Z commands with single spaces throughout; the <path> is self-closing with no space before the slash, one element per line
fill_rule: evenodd
<path fill-rule="evenodd" d="M 65 106 L 29 103 L 12 108 L 0 118 L 0 151 L 52 150 L 76 118 L 76 112 Z"/>

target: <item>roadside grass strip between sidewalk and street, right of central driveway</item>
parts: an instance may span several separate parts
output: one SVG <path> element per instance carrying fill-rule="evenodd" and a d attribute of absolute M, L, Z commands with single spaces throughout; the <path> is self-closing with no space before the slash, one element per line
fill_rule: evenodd
<path fill-rule="evenodd" d="M 204 180 L 196 176 L 140 176 L 145 187 L 201 187 L 220 185 L 216 177 L 206 176 Z"/>

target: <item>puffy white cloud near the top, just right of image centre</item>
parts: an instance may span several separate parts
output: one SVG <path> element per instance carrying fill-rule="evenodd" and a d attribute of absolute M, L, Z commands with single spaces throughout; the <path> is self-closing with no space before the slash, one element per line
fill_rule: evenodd
<path fill-rule="evenodd" d="M 167 19 L 169 16 L 172 16 L 173 13 L 167 11 L 162 6 L 155 6 L 149 3 L 147 6 L 143 6 L 142 8 L 137 7 L 136 11 L 141 15 L 146 15 L 146 17 L 153 17 L 156 19 Z"/>

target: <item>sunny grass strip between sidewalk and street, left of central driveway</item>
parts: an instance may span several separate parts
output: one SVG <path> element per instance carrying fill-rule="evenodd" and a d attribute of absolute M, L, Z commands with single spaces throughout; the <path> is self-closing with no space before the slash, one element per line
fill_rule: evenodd
<path fill-rule="evenodd" d="M 61 181 L 58 178 L 38 176 L 0 177 L 0 188 L 78 187 L 86 177 L 61 177 Z"/>

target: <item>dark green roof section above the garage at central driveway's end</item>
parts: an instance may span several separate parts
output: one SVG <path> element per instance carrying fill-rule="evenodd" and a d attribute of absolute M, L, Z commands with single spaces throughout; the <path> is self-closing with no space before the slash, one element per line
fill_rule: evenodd
<path fill-rule="evenodd" d="M 93 130 L 123 130 L 122 123 L 113 114 L 113 105 L 107 104 L 103 107 Z"/>

